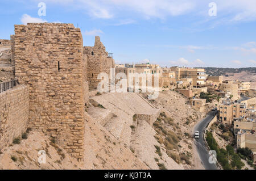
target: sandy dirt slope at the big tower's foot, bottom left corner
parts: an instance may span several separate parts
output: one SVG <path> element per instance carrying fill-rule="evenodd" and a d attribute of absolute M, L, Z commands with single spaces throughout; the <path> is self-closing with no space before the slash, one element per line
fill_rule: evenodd
<path fill-rule="evenodd" d="M 38 151 L 46 151 L 46 163 L 39 164 Z M 0 169 L 82 169 L 67 152 L 43 133 L 31 131 L 26 140 L 10 145 L 0 154 Z"/>

